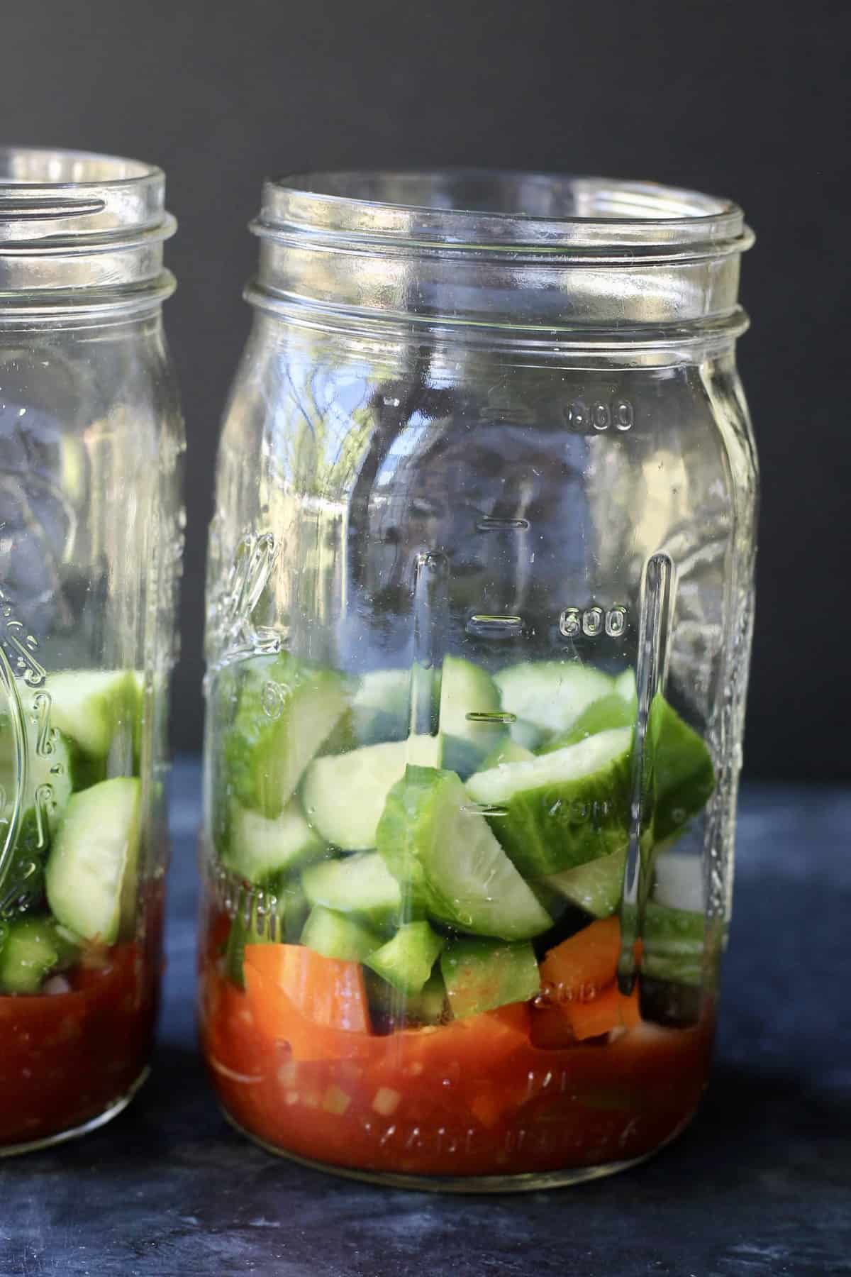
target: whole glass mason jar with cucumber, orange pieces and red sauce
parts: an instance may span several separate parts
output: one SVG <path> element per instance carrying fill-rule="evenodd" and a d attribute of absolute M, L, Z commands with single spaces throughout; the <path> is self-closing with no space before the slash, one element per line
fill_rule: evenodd
<path fill-rule="evenodd" d="M 707 1082 L 757 466 L 751 235 L 684 190 L 269 183 L 209 539 L 202 1033 L 397 1185 L 629 1166 Z"/>

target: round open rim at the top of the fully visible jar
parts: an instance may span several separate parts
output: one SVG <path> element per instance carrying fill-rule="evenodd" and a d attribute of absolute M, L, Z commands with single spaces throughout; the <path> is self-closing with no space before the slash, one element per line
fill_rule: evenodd
<path fill-rule="evenodd" d="M 295 174 L 265 183 L 263 238 L 646 257 L 740 253 L 729 199 L 655 183 L 486 169 Z"/>

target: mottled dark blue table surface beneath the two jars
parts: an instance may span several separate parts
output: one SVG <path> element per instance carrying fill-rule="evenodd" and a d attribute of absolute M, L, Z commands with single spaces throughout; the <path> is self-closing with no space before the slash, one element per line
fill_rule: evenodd
<path fill-rule="evenodd" d="M 152 1078 L 87 1139 L 0 1162 L 3 1277 L 851 1273 L 851 793 L 743 796 L 714 1075 L 692 1128 L 626 1175 L 509 1198 L 360 1185 L 227 1126 L 195 1048 L 198 813 L 182 761 Z"/>

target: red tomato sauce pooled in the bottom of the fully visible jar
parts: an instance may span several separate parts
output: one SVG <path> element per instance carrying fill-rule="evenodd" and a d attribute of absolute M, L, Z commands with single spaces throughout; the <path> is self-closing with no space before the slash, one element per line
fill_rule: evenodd
<path fill-rule="evenodd" d="M 605 1037 L 552 1032 L 515 1004 L 389 1034 L 318 1025 L 291 1043 L 274 1000 L 225 974 L 222 919 L 202 960 L 200 1029 L 219 1098 L 262 1140 L 329 1166 L 406 1175 L 518 1175 L 606 1165 L 658 1148 L 706 1085 L 712 1016 L 671 1029 L 637 1016 Z M 626 1027 L 629 1025 L 629 1027 Z M 544 1045 L 542 1045 L 544 1043 Z M 565 1045 L 566 1043 L 566 1045 Z"/>

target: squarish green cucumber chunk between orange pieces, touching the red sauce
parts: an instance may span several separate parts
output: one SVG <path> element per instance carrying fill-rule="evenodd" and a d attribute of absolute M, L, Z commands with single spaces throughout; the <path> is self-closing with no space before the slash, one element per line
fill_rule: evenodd
<path fill-rule="evenodd" d="M 440 971 L 458 1020 L 527 1002 L 541 991 L 541 972 L 528 941 L 455 940 L 440 955 Z"/>

